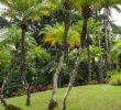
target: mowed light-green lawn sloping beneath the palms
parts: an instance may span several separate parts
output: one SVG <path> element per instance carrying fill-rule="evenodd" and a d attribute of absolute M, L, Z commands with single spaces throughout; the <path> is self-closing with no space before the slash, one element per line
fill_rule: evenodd
<path fill-rule="evenodd" d="M 57 91 L 58 107 L 61 110 L 63 96 L 66 89 Z M 47 110 L 52 90 L 32 95 L 32 106 L 25 106 L 25 96 L 10 98 L 8 103 L 23 108 L 23 110 Z M 0 110 L 4 110 L 0 106 Z M 121 110 L 121 87 L 110 85 L 90 85 L 74 87 L 67 100 L 67 110 Z"/>

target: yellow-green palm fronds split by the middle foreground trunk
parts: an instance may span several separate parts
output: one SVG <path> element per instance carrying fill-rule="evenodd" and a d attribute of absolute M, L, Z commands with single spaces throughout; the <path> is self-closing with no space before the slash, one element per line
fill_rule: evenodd
<path fill-rule="evenodd" d="M 55 45 L 55 44 L 61 44 L 63 42 L 64 38 L 64 25 L 62 24 L 55 24 L 53 28 L 52 26 L 46 26 L 44 29 L 44 42 L 50 43 L 51 45 Z M 75 45 L 80 44 L 80 37 L 79 37 L 79 33 L 75 30 L 73 30 L 70 28 L 69 32 L 68 32 L 68 36 L 67 36 L 67 43 L 70 47 L 74 47 Z"/>

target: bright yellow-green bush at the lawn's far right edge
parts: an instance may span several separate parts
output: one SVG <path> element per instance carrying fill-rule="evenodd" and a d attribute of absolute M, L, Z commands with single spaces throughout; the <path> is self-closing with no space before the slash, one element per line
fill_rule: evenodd
<path fill-rule="evenodd" d="M 116 85 L 116 86 L 121 85 L 121 74 L 112 75 L 109 80 L 109 84 Z"/>

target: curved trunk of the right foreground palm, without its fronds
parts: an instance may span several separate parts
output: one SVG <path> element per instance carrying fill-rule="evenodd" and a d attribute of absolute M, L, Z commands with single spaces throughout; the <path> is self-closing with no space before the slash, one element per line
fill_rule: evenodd
<path fill-rule="evenodd" d="M 68 84 L 66 94 L 64 96 L 62 110 L 66 110 L 66 100 L 67 100 L 67 97 L 69 95 L 69 91 L 70 91 L 70 89 L 73 87 L 73 84 L 75 81 L 75 78 L 77 76 L 77 70 L 78 70 L 78 67 L 79 67 L 80 55 L 81 55 L 80 50 L 81 50 L 81 47 L 84 48 L 85 47 L 85 44 L 86 44 L 87 22 L 88 22 L 88 19 L 90 18 L 90 8 L 89 8 L 88 4 L 82 6 L 81 13 L 82 13 L 82 18 L 84 18 L 82 32 L 80 34 L 81 46 L 79 46 L 79 48 L 78 48 L 78 53 L 77 53 L 77 56 L 76 56 L 76 59 L 75 59 L 75 66 L 74 66 L 74 69 L 73 69 L 70 79 L 69 79 L 69 84 Z"/>

